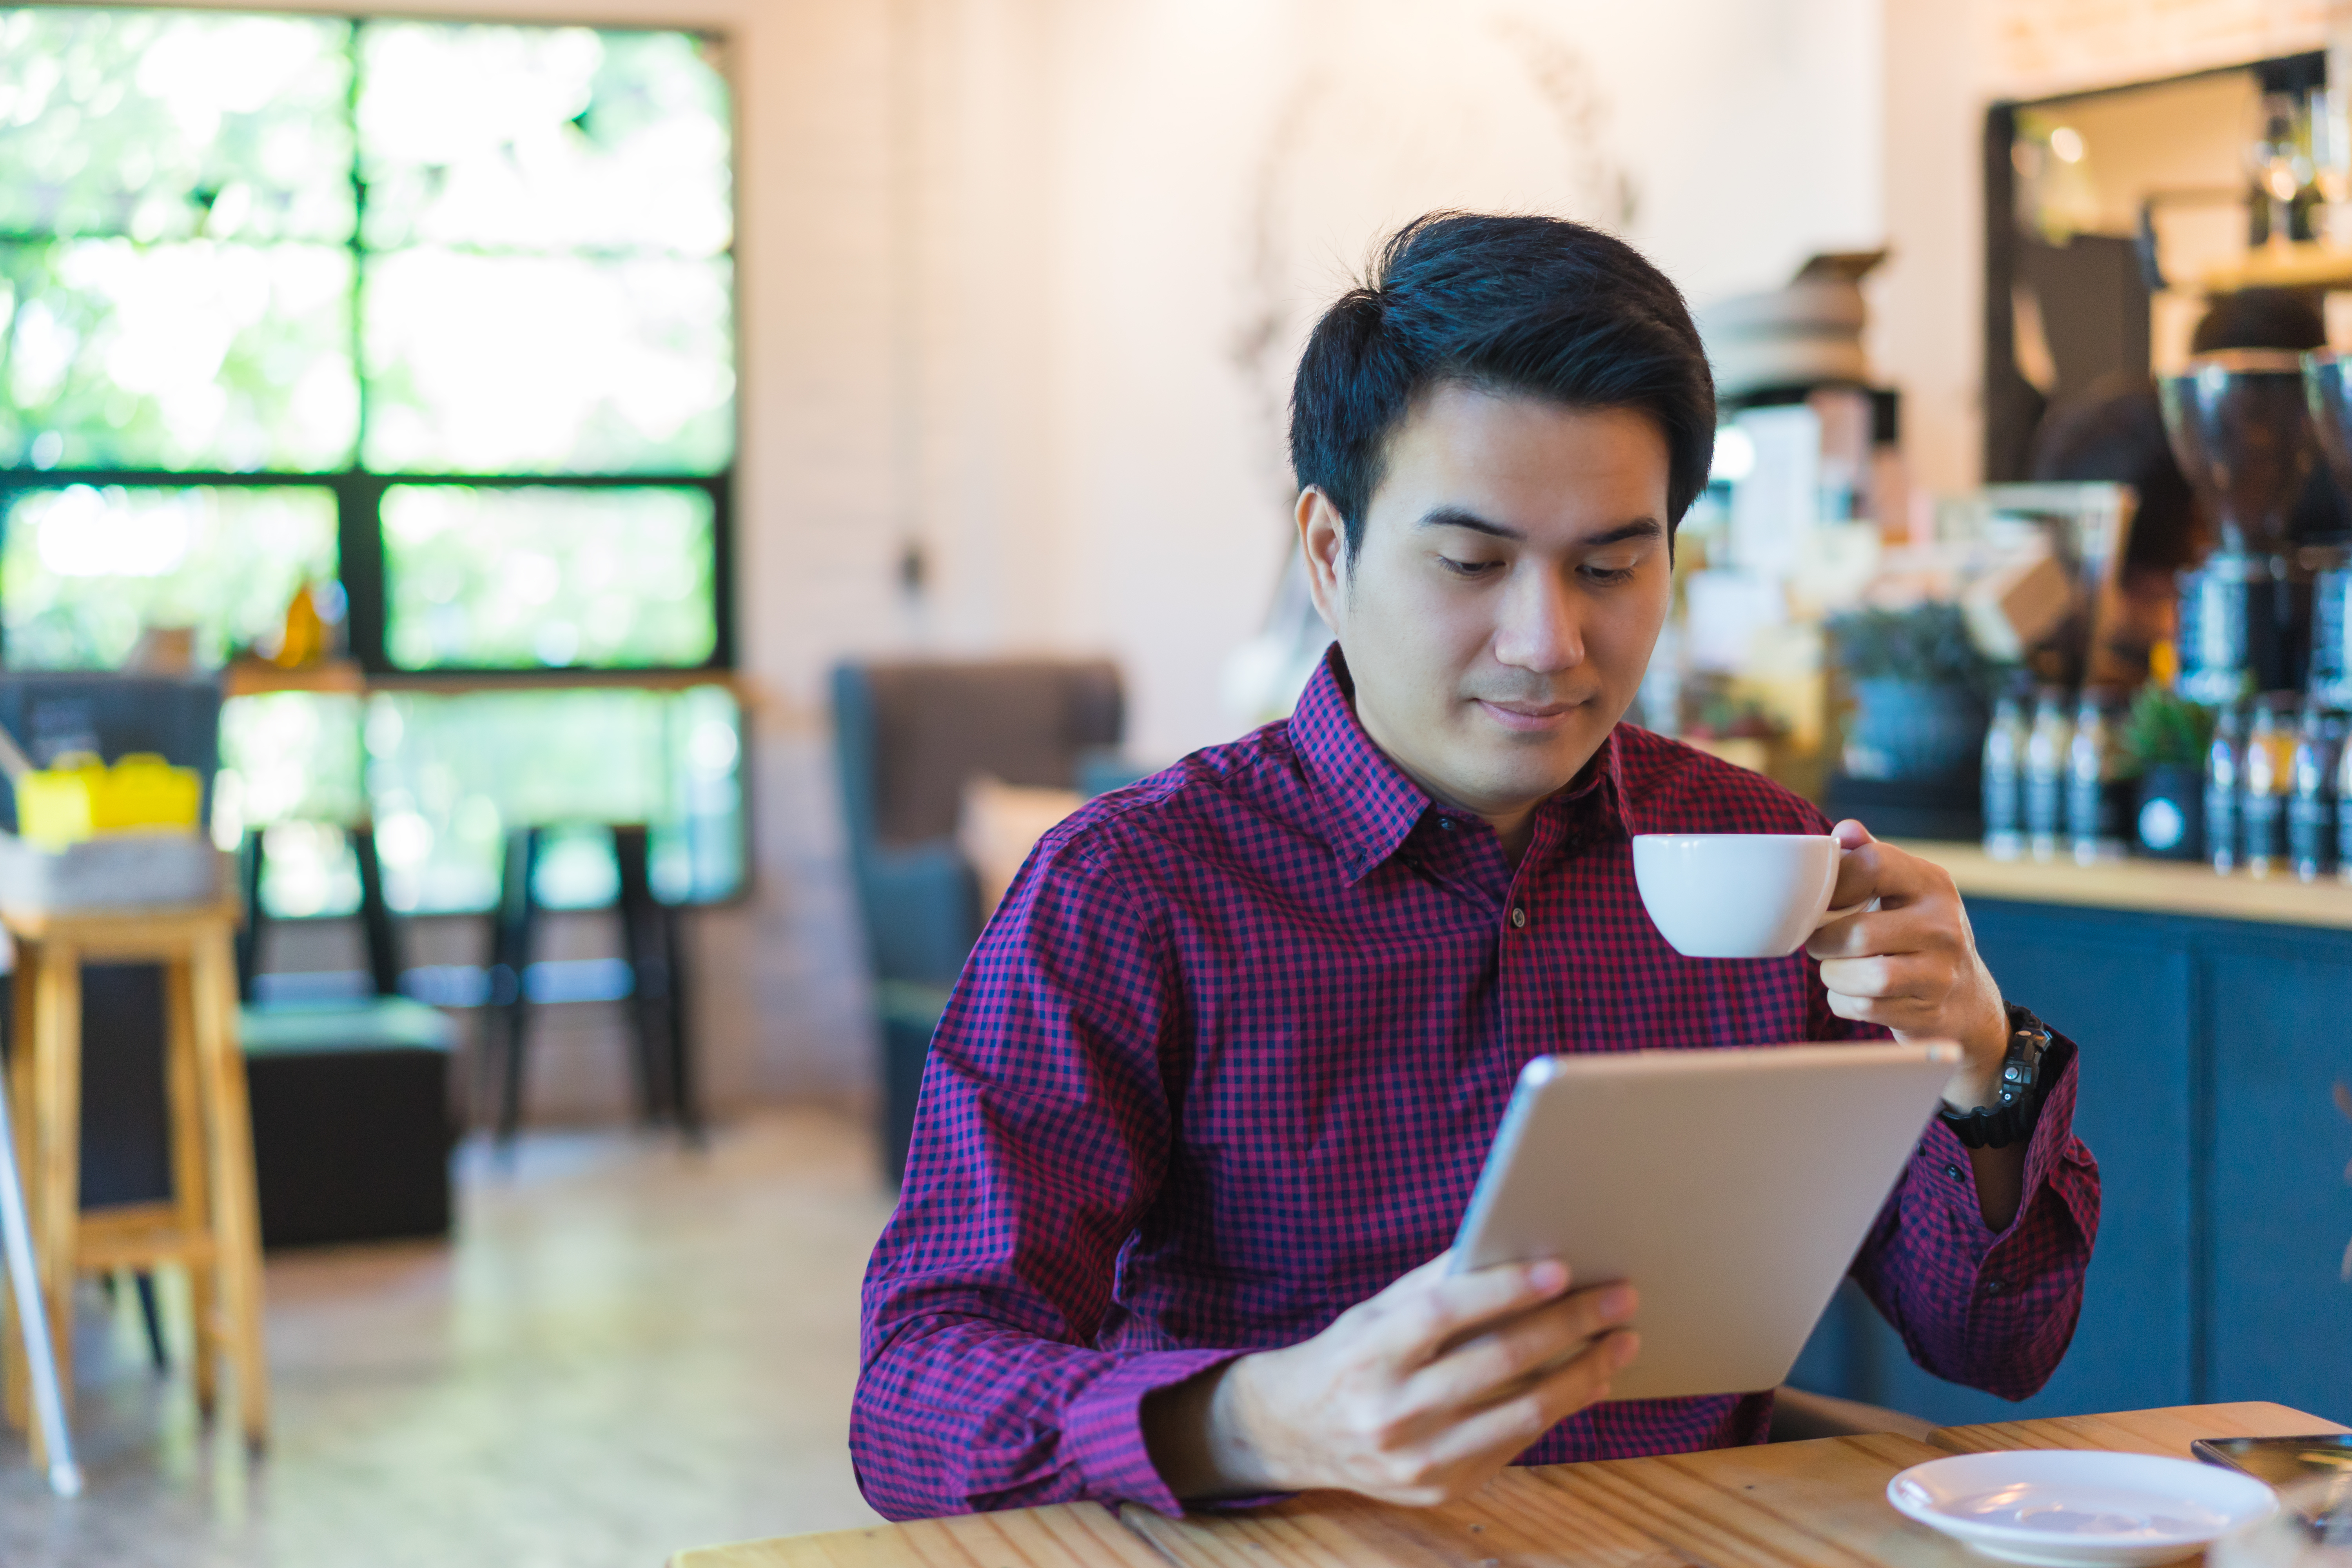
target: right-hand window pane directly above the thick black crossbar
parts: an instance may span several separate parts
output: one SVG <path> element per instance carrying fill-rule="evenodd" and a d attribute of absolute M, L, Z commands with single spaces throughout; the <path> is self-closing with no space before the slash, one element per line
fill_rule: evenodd
<path fill-rule="evenodd" d="M 717 473 L 734 456 L 727 261 L 412 249 L 369 259 L 383 473 Z"/>

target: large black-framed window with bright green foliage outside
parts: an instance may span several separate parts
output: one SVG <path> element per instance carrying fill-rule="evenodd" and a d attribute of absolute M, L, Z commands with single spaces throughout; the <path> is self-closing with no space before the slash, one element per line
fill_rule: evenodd
<path fill-rule="evenodd" d="M 275 914 L 350 907 L 360 816 L 400 910 L 524 823 L 734 893 L 731 202 L 691 33 L 0 9 L 0 658 L 339 623 L 350 689 L 223 712 Z M 612 879 L 581 827 L 539 891 Z"/>

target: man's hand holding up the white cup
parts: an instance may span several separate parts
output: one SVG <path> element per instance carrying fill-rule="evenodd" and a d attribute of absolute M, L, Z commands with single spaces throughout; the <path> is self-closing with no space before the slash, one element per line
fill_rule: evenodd
<path fill-rule="evenodd" d="M 1952 1110 L 1992 1105 L 2009 1051 L 2002 987 L 1976 957 L 1976 933 L 1952 875 L 1879 844 L 1856 820 L 1832 827 L 1846 849 L 1825 922 L 1804 945 L 1839 1018 L 1879 1023 L 1896 1039 L 1957 1039 L 1966 1063 L 1945 1084 Z"/>

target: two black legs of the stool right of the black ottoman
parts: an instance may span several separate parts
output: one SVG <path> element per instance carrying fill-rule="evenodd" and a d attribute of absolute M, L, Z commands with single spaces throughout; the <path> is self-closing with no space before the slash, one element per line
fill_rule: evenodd
<path fill-rule="evenodd" d="M 513 1143 L 522 1126 L 524 1048 L 532 1025 L 532 950 L 539 940 L 541 905 L 532 886 L 546 846 L 543 827 L 506 835 L 499 872 L 499 907 L 489 922 L 489 1004 L 482 1011 L 482 1105 L 494 1105 L 499 1143 Z M 652 832 L 644 823 L 612 830 L 621 891 L 621 959 L 628 964 L 630 1065 L 637 1079 L 637 1119 L 677 1126 L 689 1140 L 703 1135 L 694 1093 L 694 1041 L 687 1032 L 687 954 L 677 905 L 654 896 Z"/>

